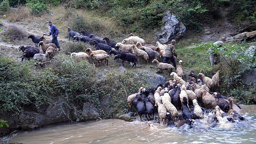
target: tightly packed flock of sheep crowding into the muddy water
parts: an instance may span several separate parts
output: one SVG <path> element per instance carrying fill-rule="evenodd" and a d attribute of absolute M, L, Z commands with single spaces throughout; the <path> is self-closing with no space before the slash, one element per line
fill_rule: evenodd
<path fill-rule="evenodd" d="M 158 84 L 155 88 L 146 90 L 140 87 L 138 93 L 128 96 L 128 105 L 136 109 L 138 115 L 145 115 L 148 121 L 153 120 L 158 112 L 160 124 L 181 126 L 193 125 L 195 119 L 205 119 L 208 124 L 229 125 L 230 122 L 245 120 L 240 107 L 234 103 L 232 97 L 224 99 L 218 92 L 211 92 L 219 87 L 220 70 L 212 78 L 199 73 L 195 75 L 192 70 L 190 79 L 182 79 L 183 70 L 181 61 L 177 73 L 172 72 L 173 80 L 164 85 Z M 179 113 L 181 110 L 182 113 Z M 149 118 L 148 118 L 149 117 Z M 151 118 L 152 117 L 152 118 Z M 152 122 L 148 122 L 153 127 Z"/>

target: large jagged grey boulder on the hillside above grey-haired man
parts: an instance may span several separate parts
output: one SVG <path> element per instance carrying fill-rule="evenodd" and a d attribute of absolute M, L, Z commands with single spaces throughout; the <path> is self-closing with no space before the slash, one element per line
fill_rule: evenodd
<path fill-rule="evenodd" d="M 162 22 L 165 25 L 161 28 L 162 33 L 158 33 L 158 39 L 162 43 L 166 44 L 172 39 L 177 40 L 185 35 L 186 27 L 170 11 L 165 12 Z"/>

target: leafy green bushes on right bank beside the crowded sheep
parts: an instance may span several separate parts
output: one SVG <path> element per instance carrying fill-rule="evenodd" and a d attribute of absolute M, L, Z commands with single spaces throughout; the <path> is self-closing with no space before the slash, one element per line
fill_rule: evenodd
<path fill-rule="evenodd" d="M 214 53 L 221 56 L 221 63 L 217 67 L 221 70 L 221 89 L 223 94 L 244 100 L 250 104 L 253 94 L 256 93 L 251 84 L 243 83 L 243 74 L 256 67 L 255 51 L 248 49 L 249 45 L 242 44 L 223 44 L 217 47 L 212 43 L 199 44 L 197 50 L 213 48 Z M 208 60 L 209 61 L 209 60 Z M 245 94 L 248 91 L 248 94 Z"/>

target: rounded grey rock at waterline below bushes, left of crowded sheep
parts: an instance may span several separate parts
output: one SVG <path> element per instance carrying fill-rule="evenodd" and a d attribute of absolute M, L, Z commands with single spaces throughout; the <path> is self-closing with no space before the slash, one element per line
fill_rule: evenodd
<path fill-rule="evenodd" d="M 97 109 L 94 107 L 94 105 L 87 102 L 83 105 L 82 116 L 86 120 L 95 120 L 99 117 L 99 113 L 97 112 Z"/>

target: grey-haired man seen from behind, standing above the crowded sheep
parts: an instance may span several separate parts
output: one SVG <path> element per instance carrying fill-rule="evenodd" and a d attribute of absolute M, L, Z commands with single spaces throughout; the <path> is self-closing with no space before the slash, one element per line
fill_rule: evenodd
<path fill-rule="evenodd" d="M 163 63 L 167 63 L 167 61 L 170 60 L 176 70 L 175 57 L 177 57 L 177 54 L 175 52 L 175 47 L 174 47 L 175 44 L 176 44 L 176 40 L 172 40 L 172 43 L 168 44 L 168 47 L 166 47 Z"/>

